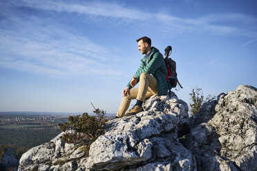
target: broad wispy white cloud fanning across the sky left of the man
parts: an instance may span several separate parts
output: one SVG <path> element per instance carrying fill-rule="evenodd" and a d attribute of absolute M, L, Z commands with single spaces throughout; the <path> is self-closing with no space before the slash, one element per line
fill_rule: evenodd
<path fill-rule="evenodd" d="M 36 17 L 26 20 L 9 18 L 5 22 L 12 28 L 1 28 L 2 67 L 53 76 L 121 74 L 108 62 L 115 55 L 86 37 L 64 30 L 65 26 L 58 26 L 53 21 L 42 22 Z"/>

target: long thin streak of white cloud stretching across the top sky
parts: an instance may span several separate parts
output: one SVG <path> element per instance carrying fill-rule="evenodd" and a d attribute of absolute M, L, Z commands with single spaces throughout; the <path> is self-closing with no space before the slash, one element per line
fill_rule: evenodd
<path fill-rule="evenodd" d="M 186 3 L 193 3 L 191 0 L 184 0 Z M 182 18 L 175 17 L 166 12 L 148 12 L 137 8 L 128 8 L 120 3 L 106 1 L 83 1 L 83 3 L 75 3 L 74 1 L 12 1 L 13 6 L 26 6 L 28 8 L 69 12 L 82 14 L 84 16 L 94 17 L 94 21 L 98 21 L 95 17 L 106 17 L 105 22 L 118 23 L 124 21 L 133 23 L 133 26 L 151 26 L 158 30 L 172 31 L 174 34 L 187 32 L 211 32 L 213 34 L 236 35 L 242 37 L 255 37 L 257 32 L 254 29 L 257 19 L 253 16 L 240 13 L 210 14 L 198 18 Z M 114 19 L 114 20 L 113 20 Z M 149 22 L 151 21 L 151 22 Z M 240 27 L 236 23 L 245 23 L 249 27 Z M 242 24 L 240 24 L 242 25 Z"/>

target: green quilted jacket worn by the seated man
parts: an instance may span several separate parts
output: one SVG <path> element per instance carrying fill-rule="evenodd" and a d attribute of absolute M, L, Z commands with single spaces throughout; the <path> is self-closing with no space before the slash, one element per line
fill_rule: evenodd
<path fill-rule="evenodd" d="M 140 74 L 146 72 L 147 74 L 152 74 L 153 77 L 157 80 L 157 90 L 158 96 L 162 96 L 168 92 L 171 88 L 169 82 L 166 80 L 166 74 L 168 74 L 168 70 L 166 68 L 164 58 L 158 49 L 152 47 L 152 52 L 150 55 L 150 61 L 146 66 L 146 57 L 144 56 L 141 59 L 142 63 L 140 68 L 135 72 L 135 78 L 137 79 L 137 83 L 140 81 Z M 128 83 L 128 88 L 131 89 L 131 81 Z"/>

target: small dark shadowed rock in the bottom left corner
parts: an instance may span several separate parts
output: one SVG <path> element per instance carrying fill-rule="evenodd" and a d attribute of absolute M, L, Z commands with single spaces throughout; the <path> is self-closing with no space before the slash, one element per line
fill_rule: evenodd
<path fill-rule="evenodd" d="M 3 153 L 0 159 L 1 165 L 3 165 L 6 170 L 17 170 L 19 161 L 15 157 L 15 150 L 13 150 L 13 148 L 8 148 L 8 150 Z"/>

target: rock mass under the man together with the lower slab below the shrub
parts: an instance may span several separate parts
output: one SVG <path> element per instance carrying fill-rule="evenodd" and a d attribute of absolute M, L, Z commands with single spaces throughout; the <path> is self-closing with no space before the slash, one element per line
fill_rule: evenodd
<path fill-rule="evenodd" d="M 147 99 L 144 110 L 111 121 L 87 158 L 82 147 L 63 142 L 62 133 L 23 154 L 19 170 L 196 170 L 177 134 L 188 121 L 187 103 L 171 93 Z"/>

